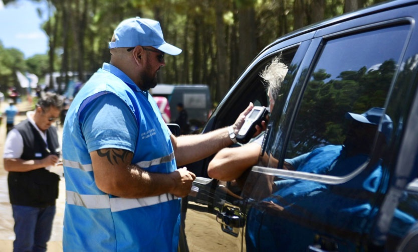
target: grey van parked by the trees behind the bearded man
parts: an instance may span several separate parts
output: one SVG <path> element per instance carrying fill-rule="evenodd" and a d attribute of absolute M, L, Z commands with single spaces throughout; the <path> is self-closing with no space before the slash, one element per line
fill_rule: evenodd
<path fill-rule="evenodd" d="M 210 90 L 204 84 L 158 84 L 149 92 L 153 96 L 163 96 L 168 99 L 171 122 L 177 118 L 177 104 L 183 103 L 188 114 L 191 132 L 203 126 L 212 108 Z"/>

